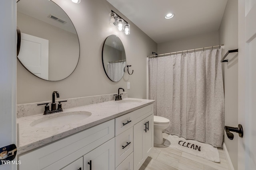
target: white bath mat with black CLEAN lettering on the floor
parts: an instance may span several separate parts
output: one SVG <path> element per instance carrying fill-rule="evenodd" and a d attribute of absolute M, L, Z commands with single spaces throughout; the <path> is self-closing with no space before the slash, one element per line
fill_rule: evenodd
<path fill-rule="evenodd" d="M 194 140 L 187 140 L 176 135 L 169 135 L 164 142 L 166 147 L 176 148 L 183 152 L 213 161 L 220 162 L 218 149 L 212 145 L 201 143 Z"/>

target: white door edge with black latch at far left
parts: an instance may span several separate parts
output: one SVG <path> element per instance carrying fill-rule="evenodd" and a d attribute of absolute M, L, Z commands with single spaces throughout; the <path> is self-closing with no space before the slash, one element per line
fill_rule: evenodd
<path fill-rule="evenodd" d="M 0 0 L 0 16 L 0 148 L 3 148 L 16 145 L 16 0 Z M 14 163 L 0 165 L 0 170 L 16 169 Z"/>

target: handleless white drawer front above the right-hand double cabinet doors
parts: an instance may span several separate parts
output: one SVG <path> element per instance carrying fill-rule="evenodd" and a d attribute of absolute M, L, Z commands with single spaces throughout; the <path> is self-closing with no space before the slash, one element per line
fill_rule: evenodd
<path fill-rule="evenodd" d="M 148 117 L 149 115 L 154 113 L 154 105 L 150 104 L 148 106 L 145 106 L 145 107 L 142 107 L 140 109 L 137 109 L 137 110 L 135 110 L 135 111 L 133 111 L 131 113 L 133 113 L 134 125 L 135 125 L 139 121 L 145 119 L 146 117 Z"/>

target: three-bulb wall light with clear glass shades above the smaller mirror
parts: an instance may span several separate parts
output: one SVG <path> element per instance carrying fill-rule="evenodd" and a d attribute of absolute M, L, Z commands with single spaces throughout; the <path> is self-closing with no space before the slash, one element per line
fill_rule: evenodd
<path fill-rule="evenodd" d="M 130 34 L 130 24 L 111 10 L 109 16 L 109 25 L 116 26 L 119 31 L 124 31 L 125 35 Z"/>

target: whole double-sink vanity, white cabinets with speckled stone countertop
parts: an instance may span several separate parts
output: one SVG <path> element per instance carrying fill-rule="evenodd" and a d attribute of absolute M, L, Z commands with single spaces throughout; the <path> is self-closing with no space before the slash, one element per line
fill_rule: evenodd
<path fill-rule="evenodd" d="M 154 146 L 153 103 L 125 98 L 19 118 L 18 169 L 138 170 Z"/>

